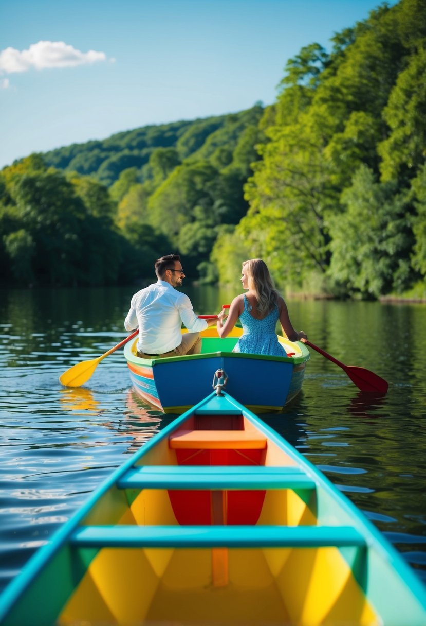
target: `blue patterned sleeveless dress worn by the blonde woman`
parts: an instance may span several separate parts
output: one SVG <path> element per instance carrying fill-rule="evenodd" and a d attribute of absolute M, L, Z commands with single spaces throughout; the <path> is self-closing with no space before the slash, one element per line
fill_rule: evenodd
<path fill-rule="evenodd" d="M 252 305 L 244 294 L 244 311 L 239 317 L 243 333 L 233 352 L 287 356 L 275 332 L 279 318 L 277 305 L 275 304 L 274 309 L 263 319 L 255 319 L 250 314 L 250 310 L 252 310 Z"/>

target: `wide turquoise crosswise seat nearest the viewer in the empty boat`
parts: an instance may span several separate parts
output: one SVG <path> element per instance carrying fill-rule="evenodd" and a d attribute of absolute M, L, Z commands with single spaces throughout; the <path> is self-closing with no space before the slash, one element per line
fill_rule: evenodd
<path fill-rule="evenodd" d="M 320 548 L 366 545 L 352 526 L 81 526 L 71 545 L 84 548 Z"/>

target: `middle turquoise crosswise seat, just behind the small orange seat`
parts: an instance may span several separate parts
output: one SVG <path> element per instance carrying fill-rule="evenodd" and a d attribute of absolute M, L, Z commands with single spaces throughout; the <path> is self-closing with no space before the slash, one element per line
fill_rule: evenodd
<path fill-rule="evenodd" d="M 117 485 L 120 489 L 315 489 L 312 478 L 296 466 L 280 468 L 262 465 L 141 466 L 128 469 Z"/>

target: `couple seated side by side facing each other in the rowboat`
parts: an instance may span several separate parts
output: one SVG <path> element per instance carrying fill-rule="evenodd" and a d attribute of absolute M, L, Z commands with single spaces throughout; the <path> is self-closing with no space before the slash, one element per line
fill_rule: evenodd
<path fill-rule="evenodd" d="M 139 326 L 137 356 L 142 358 L 181 356 L 201 352 L 201 331 L 217 324 L 220 337 L 226 337 L 240 320 L 243 334 L 234 352 L 286 356 L 275 333 L 277 321 L 290 341 L 306 339 L 290 322 L 284 299 L 274 288 L 269 269 L 261 259 L 242 264 L 241 284 L 247 291 L 232 300 L 229 315 L 222 310 L 216 319 L 200 319 L 186 294 L 175 289 L 185 278 L 181 257 L 169 254 L 157 259 L 157 282 L 138 291 L 124 321 L 127 331 Z M 182 322 L 188 332 L 181 334 Z"/>

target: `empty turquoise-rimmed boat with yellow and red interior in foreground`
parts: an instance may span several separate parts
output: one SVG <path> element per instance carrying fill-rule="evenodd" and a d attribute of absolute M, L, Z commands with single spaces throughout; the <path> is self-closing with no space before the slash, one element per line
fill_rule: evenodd
<path fill-rule="evenodd" d="M 0 623 L 424 626 L 426 589 L 218 384 L 34 555 L 0 597 Z"/>

